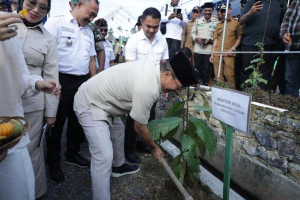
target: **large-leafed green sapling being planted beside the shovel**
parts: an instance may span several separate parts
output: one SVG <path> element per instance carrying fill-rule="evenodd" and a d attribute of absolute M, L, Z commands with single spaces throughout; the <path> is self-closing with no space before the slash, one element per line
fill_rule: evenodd
<path fill-rule="evenodd" d="M 191 107 L 202 110 L 208 121 L 211 113 L 208 99 L 201 92 L 193 93 L 202 95 L 204 103 Z M 152 120 L 147 126 L 153 140 L 158 142 L 171 138 L 179 131 L 180 153 L 172 160 L 172 170 L 181 183 L 187 178 L 197 182 L 200 175 L 199 156 L 204 156 L 206 151 L 213 155 L 216 151 L 217 138 L 206 122 L 188 112 L 188 101 L 178 101 L 163 118 Z"/>

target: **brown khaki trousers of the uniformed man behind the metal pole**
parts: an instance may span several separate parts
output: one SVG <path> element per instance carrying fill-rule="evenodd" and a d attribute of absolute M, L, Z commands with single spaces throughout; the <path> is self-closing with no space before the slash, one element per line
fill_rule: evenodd
<path fill-rule="evenodd" d="M 222 81 L 222 82 L 227 81 L 230 84 L 235 85 L 234 59 L 235 59 L 235 57 L 233 57 L 233 56 L 222 56 L 220 81 Z M 217 77 L 219 60 L 220 60 L 220 56 L 214 56 L 213 70 L 214 70 L 215 77 Z"/>

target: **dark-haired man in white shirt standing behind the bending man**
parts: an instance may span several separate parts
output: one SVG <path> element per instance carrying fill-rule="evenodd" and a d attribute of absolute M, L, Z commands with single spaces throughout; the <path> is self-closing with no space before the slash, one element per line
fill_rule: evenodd
<path fill-rule="evenodd" d="M 160 17 L 160 12 L 154 7 L 148 7 L 143 11 L 141 15 L 142 29 L 132 34 L 128 39 L 125 54 L 126 62 L 144 58 L 148 58 L 155 64 L 167 61 L 167 43 L 165 38 L 158 32 Z M 155 118 L 155 106 L 156 101 L 151 108 L 149 120 Z M 130 115 L 127 115 L 124 147 L 126 159 L 137 163 L 140 159 L 134 153 L 137 135 L 133 127 L 133 121 Z M 151 152 L 142 142 L 137 143 L 136 147 Z"/>

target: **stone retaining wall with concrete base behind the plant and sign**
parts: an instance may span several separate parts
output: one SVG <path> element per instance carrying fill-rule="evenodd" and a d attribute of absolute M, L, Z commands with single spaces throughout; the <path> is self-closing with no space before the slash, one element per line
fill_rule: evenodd
<path fill-rule="evenodd" d="M 210 100 L 210 91 L 204 93 Z M 184 90 L 158 101 L 156 118 L 181 99 L 186 99 Z M 202 102 L 202 96 L 196 94 L 189 105 Z M 207 121 L 202 111 L 189 111 Z M 208 125 L 218 137 L 218 148 L 214 157 L 206 154 L 204 159 L 223 171 L 224 133 L 213 117 Z M 248 132 L 234 130 L 231 180 L 258 199 L 300 199 L 300 113 L 252 102 Z"/>

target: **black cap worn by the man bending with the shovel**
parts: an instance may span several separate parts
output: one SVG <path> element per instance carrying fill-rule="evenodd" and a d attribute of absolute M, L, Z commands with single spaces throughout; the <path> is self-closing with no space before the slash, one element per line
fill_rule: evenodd
<path fill-rule="evenodd" d="M 198 82 L 194 67 L 182 52 L 179 51 L 169 60 L 169 62 L 183 87 L 187 87 Z"/>

